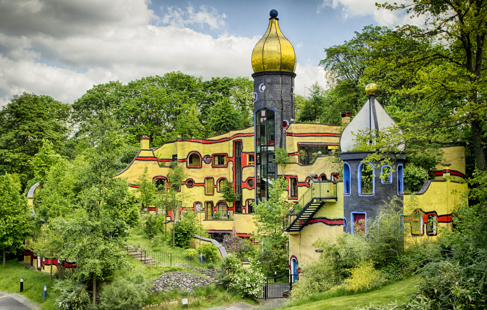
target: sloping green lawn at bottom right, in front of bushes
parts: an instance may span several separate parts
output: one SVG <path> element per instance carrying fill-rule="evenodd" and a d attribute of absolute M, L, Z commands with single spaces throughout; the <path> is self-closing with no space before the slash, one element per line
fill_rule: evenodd
<path fill-rule="evenodd" d="M 416 282 L 415 278 L 409 278 L 384 286 L 375 291 L 345 296 L 337 296 L 340 292 L 324 292 L 322 294 L 312 295 L 307 300 L 289 301 L 283 308 L 286 310 L 354 310 L 356 307 L 368 306 L 370 303 L 374 305 L 387 305 L 395 300 L 406 302 L 410 298 L 408 294 L 415 291 L 414 285 Z"/>

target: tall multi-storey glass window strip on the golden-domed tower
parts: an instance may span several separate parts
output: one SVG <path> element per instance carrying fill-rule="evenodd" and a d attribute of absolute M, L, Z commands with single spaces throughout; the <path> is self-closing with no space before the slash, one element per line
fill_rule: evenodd
<path fill-rule="evenodd" d="M 276 124 L 274 111 L 261 109 L 255 113 L 255 170 L 257 201 L 267 200 L 269 188 L 276 179 Z"/>

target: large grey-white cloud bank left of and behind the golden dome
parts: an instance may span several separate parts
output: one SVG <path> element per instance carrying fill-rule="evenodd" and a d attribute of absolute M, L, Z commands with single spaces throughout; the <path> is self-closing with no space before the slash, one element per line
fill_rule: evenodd
<path fill-rule="evenodd" d="M 188 12 L 160 25 L 144 0 L 0 0 L 0 105 L 22 92 L 73 102 L 93 84 L 170 71 L 204 78 L 253 73 L 259 37 L 213 38 L 178 23 L 216 28 L 226 16 Z M 296 73 L 297 83 L 324 83 L 319 67 L 298 64 Z"/>

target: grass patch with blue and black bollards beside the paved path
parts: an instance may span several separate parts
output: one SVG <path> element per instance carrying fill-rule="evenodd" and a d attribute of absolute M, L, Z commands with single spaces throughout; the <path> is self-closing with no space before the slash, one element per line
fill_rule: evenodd
<path fill-rule="evenodd" d="M 24 279 L 24 291 L 20 292 L 20 278 Z M 8 291 L 24 295 L 33 302 L 39 304 L 44 310 L 55 310 L 56 294 L 53 286 L 56 281 L 53 275 L 53 282 L 49 283 L 49 273 L 27 269 L 17 260 L 6 262 L 5 268 L 0 265 L 0 291 Z M 42 300 L 44 285 L 47 285 L 46 300 Z"/>

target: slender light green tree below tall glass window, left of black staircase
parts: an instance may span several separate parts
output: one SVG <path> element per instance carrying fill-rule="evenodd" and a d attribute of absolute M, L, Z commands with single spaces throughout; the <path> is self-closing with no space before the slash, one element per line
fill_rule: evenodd
<path fill-rule="evenodd" d="M 269 262 L 269 270 L 278 271 L 279 274 L 288 272 L 289 265 L 288 237 L 282 233 L 282 217 L 289 212 L 290 206 L 286 202 L 289 196 L 284 194 L 286 186 L 286 178 L 277 178 L 269 188 L 269 199 L 253 203 L 257 232 L 252 232 L 252 235 L 263 247 L 262 258 Z"/>

